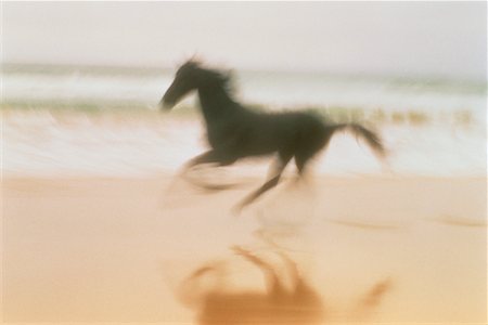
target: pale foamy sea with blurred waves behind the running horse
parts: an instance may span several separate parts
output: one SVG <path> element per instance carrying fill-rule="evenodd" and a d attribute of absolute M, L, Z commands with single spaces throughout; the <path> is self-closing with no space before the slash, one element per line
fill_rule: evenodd
<path fill-rule="evenodd" d="M 333 122 L 375 129 L 388 150 L 388 173 L 486 176 L 485 80 L 231 73 L 233 95 L 255 109 L 312 109 Z M 3 66 L 3 176 L 175 172 L 207 144 L 195 95 L 159 110 L 172 77 L 157 68 Z M 236 164 L 233 172 L 265 172 L 268 164 Z M 385 173 L 364 143 L 346 133 L 314 165 L 324 174 Z"/>

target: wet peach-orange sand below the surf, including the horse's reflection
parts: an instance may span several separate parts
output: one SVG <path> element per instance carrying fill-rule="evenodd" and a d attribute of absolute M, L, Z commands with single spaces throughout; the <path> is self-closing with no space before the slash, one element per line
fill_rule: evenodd
<path fill-rule="evenodd" d="M 3 321 L 485 323 L 486 179 L 4 178 Z"/>

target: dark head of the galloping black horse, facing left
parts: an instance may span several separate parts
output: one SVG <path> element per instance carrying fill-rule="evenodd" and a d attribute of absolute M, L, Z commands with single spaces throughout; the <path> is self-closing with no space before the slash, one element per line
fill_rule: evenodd
<path fill-rule="evenodd" d="M 180 66 L 159 105 L 165 109 L 171 109 L 184 95 L 198 87 L 202 72 L 202 67 L 195 61 L 188 61 Z"/>

